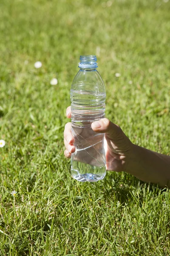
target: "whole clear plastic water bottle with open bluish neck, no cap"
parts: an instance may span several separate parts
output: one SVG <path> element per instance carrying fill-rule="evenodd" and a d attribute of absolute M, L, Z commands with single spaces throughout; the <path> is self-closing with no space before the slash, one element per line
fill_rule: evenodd
<path fill-rule="evenodd" d="M 76 147 L 71 155 L 71 175 L 79 181 L 95 182 L 106 175 L 104 134 L 91 124 L 105 117 L 105 85 L 95 55 L 80 56 L 79 72 L 71 85 L 71 123 Z"/>

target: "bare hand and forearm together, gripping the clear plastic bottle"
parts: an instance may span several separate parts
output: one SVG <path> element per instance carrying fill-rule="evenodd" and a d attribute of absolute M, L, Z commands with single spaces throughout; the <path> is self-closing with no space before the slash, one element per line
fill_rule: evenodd
<path fill-rule="evenodd" d="M 66 110 L 71 118 L 71 107 Z M 93 122 L 91 128 L 97 133 L 105 133 L 106 169 L 115 172 L 127 172 L 145 182 L 158 183 L 161 187 L 170 187 L 170 156 L 150 151 L 133 144 L 119 125 L 103 118 Z M 71 157 L 76 148 L 71 134 L 71 122 L 64 130 L 65 157 Z"/>

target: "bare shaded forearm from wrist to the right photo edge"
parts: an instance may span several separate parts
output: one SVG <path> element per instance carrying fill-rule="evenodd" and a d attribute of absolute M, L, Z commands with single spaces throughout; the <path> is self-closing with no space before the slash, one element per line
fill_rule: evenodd
<path fill-rule="evenodd" d="M 133 144 L 127 172 L 140 180 L 170 187 L 170 156 Z"/>

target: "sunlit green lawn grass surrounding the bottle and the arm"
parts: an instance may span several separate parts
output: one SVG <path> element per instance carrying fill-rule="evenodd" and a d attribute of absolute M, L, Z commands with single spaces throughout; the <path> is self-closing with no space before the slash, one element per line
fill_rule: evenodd
<path fill-rule="evenodd" d="M 83 54 L 97 54 L 106 116 L 169 154 L 170 1 L 1 0 L 0 256 L 168 256 L 169 190 L 71 177 L 65 108 Z"/>

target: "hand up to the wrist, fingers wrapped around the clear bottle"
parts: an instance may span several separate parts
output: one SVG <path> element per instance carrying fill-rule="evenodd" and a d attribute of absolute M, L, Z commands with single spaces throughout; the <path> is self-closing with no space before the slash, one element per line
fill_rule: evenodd
<path fill-rule="evenodd" d="M 66 115 L 71 118 L 71 107 L 67 108 Z M 107 118 L 93 122 L 91 128 L 95 132 L 105 133 L 106 169 L 116 172 L 126 171 L 133 143 L 130 142 L 122 129 Z M 65 125 L 64 143 L 66 148 L 64 154 L 65 157 L 69 158 L 71 153 L 76 150 L 74 137 L 71 134 L 71 122 Z"/>

